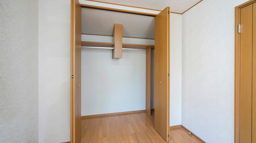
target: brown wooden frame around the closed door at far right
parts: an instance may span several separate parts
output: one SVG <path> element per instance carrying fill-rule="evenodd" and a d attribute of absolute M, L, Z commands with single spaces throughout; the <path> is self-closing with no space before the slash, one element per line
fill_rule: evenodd
<path fill-rule="evenodd" d="M 234 120 L 234 142 L 240 142 L 240 33 L 238 33 L 238 24 L 240 24 L 240 11 L 256 0 L 247 1 L 235 7 L 235 120 Z"/>

